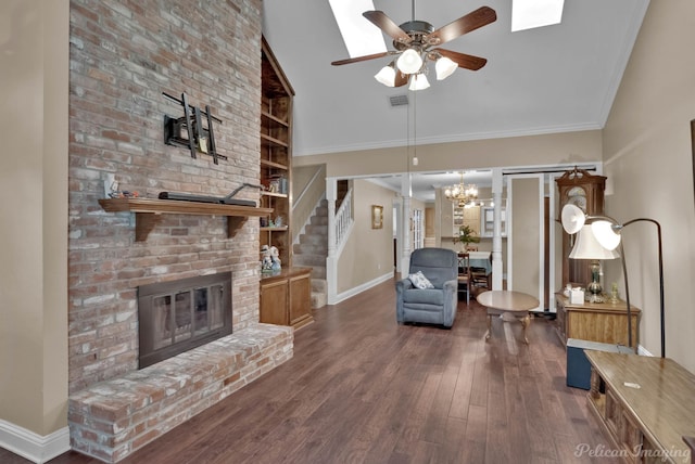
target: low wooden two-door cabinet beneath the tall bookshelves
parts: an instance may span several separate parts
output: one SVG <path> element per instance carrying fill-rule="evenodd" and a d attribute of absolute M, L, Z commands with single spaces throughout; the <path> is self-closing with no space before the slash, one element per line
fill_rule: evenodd
<path fill-rule="evenodd" d="M 312 270 L 285 269 L 261 276 L 261 322 L 303 327 L 312 315 Z"/>

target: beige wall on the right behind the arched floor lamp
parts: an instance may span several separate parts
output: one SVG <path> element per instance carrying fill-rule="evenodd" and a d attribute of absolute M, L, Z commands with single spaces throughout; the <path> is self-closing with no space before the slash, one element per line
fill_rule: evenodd
<path fill-rule="evenodd" d="M 652 1 L 604 130 L 606 212 L 662 227 L 667 356 L 695 372 L 695 2 Z M 630 297 L 643 309 L 640 344 L 660 355 L 656 229 L 623 231 Z M 619 278 L 607 266 L 606 282 Z M 620 284 L 621 292 L 624 288 Z"/>

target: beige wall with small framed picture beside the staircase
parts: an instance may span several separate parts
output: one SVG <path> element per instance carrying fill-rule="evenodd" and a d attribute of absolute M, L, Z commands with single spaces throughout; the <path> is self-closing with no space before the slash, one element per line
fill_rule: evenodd
<path fill-rule="evenodd" d="M 338 260 L 338 294 L 393 272 L 395 192 L 366 180 L 353 182 L 354 228 Z M 383 228 L 371 229 L 371 205 L 383 206 Z"/>

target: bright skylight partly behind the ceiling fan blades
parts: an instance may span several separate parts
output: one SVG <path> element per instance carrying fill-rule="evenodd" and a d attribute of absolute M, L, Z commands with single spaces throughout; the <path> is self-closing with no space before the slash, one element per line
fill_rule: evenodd
<path fill-rule="evenodd" d="M 381 30 L 362 13 L 375 10 L 371 0 L 329 0 L 350 57 L 387 51 Z"/>

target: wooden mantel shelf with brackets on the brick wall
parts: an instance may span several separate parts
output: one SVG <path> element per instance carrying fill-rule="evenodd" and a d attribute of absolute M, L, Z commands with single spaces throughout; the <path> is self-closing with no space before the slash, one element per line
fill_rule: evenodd
<path fill-rule="evenodd" d="M 162 215 L 207 215 L 227 217 L 227 236 L 231 239 L 247 218 L 269 216 L 273 208 L 222 205 L 217 203 L 179 202 L 159 198 L 102 198 L 99 204 L 106 212 L 135 212 L 135 240 L 143 242 Z"/>

